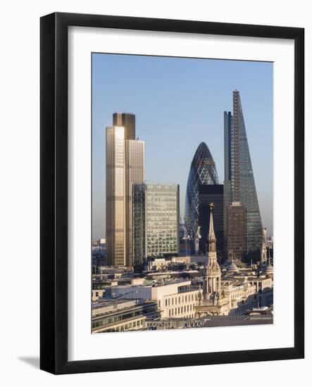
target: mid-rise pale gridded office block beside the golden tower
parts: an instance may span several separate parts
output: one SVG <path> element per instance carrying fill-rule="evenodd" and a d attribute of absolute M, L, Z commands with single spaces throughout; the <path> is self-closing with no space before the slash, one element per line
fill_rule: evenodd
<path fill-rule="evenodd" d="M 133 262 L 177 255 L 180 243 L 180 189 L 177 184 L 133 184 Z"/>

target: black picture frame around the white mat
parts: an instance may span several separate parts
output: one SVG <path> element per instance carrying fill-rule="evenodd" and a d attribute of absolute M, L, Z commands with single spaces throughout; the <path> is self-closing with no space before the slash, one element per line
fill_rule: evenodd
<path fill-rule="evenodd" d="M 68 361 L 68 27 L 294 40 L 294 347 Z M 40 368 L 53 374 L 304 357 L 304 29 L 112 15 L 40 20 Z"/>

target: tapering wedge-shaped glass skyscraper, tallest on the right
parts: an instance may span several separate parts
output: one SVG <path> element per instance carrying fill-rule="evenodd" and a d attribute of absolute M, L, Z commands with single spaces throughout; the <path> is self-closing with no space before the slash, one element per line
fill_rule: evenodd
<path fill-rule="evenodd" d="M 247 133 L 239 91 L 233 91 L 233 115 L 224 113 L 225 127 L 225 209 L 232 202 L 246 208 L 247 253 L 258 252 L 262 223 L 254 182 Z M 225 229 L 227 224 L 225 223 Z"/>

